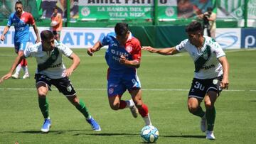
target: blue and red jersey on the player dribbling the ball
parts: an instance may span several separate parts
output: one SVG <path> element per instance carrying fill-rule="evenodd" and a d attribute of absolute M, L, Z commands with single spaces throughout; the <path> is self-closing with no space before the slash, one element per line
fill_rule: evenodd
<path fill-rule="evenodd" d="M 121 55 L 127 58 L 127 60 L 137 60 L 140 62 L 142 56 L 142 48 L 137 38 L 132 36 L 130 33 L 125 47 L 122 47 L 116 39 L 114 33 L 110 33 L 105 36 L 101 41 L 102 45 L 108 45 L 108 49 L 105 53 L 105 60 L 110 70 L 116 70 L 119 72 L 127 72 L 130 70 L 136 70 L 132 67 L 127 67 L 119 63 L 119 58 Z"/>

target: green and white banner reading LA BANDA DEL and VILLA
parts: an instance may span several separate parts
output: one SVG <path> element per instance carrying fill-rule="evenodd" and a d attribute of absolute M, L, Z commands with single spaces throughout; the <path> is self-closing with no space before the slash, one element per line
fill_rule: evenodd
<path fill-rule="evenodd" d="M 149 19 L 153 0 L 84 0 L 78 1 L 80 19 Z"/>

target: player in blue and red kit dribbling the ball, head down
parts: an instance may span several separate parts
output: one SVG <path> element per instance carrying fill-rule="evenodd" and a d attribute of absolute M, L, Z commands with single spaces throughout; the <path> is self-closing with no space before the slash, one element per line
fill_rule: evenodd
<path fill-rule="evenodd" d="M 113 110 L 129 108 L 132 116 L 137 113 L 144 119 L 146 126 L 151 125 L 149 110 L 142 101 L 142 89 L 137 75 L 141 60 L 141 45 L 137 38 L 132 36 L 127 23 L 117 23 L 115 33 L 110 33 L 92 48 L 87 54 L 92 56 L 104 45 L 108 45 L 105 59 L 109 66 L 107 70 L 107 94 L 110 107 Z M 122 95 L 128 90 L 132 99 L 124 101 Z"/>

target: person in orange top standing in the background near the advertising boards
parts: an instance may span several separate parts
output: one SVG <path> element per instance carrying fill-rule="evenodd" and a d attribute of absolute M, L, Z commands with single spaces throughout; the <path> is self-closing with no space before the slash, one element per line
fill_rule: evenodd
<path fill-rule="evenodd" d="M 61 13 L 58 13 L 58 7 L 53 8 L 53 15 L 51 16 L 51 23 L 50 26 L 53 31 L 53 35 L 55 36 L 55 39 L 60 43 L 60 33 L 61 29 L 63 27 L 63 18 L 61 16 Z"/>

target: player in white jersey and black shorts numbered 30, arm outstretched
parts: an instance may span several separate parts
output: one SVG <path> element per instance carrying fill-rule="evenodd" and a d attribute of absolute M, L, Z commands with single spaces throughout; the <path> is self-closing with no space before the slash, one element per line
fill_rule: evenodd
<path fill-rule="evenodd" d="M 175 47 L 155 49 L 146 46 L 142 50 L 160 55 L 174 55 L 186 51 L 191 55 L 195 73 L 188 93 L 188 110 L 201 117 L 201 131 L 206 132 L 207 139 L 214 140 L 214 104 L 221 90 L 228 89 L 229 64 L 220 45 L 213 38 L 203 36 L 202 31 L 201 23 L 193 21 L 186 27 L 188 39 Z M 200 106 L 203 99 L 206 112 Z"/>

